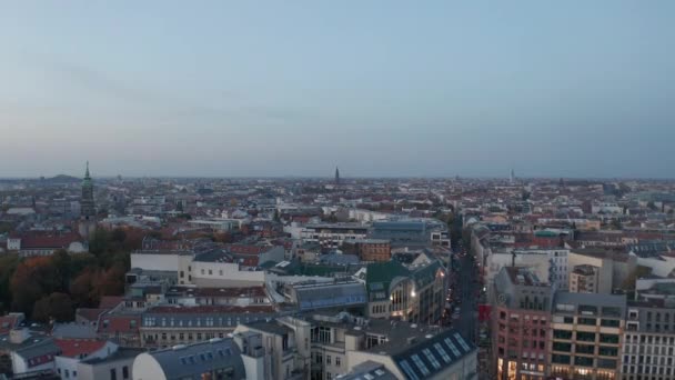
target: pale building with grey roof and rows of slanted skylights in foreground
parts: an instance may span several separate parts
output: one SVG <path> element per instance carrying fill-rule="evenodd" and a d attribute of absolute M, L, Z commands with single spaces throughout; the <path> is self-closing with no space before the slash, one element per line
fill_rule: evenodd
<path fill-rule="evenodd" d="M 355 371 L 417 380 L 476 374 L 476 348 L 452 329 L 366 320 L 343 312 L 243 323 L 233 338 L 243 341 L 252 334 L 260 334 L 256 341 L 266 357 L 259 369 L 264 373 L 260 379 L 265 380 L 334 380 Z"/>

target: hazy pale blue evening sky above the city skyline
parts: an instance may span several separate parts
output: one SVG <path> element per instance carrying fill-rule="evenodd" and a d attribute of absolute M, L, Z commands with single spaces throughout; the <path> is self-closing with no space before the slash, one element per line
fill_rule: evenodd
<path fill-rule="evenodd" d="M 0 177 L 675 177 L 675 1 L 7 1 Z"/>

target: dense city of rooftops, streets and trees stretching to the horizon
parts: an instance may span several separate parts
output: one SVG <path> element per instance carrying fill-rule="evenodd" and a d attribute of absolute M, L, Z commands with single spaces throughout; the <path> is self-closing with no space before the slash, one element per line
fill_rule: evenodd
<path fill-rule="evenodd" d="M 675 379 L 675 182 L 0 181 L 16 379 Z"/>

